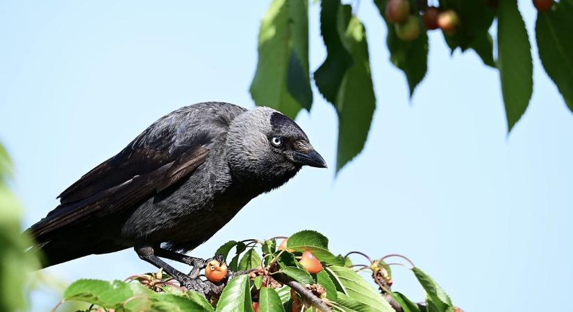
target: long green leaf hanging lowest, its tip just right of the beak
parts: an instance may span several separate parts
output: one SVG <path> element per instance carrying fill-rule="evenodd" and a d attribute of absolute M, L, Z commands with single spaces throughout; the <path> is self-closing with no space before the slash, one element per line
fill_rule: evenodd
<path fill-rule="evenodd" d="M 343 12 L 349 18 L 344 46 L 350 51 L 354 63 L 344 75 L 336 96 L 337 172 L 363 150 L 376 107 L 364 26 L 351 16 L 350 6 L 344 6 Z"/>

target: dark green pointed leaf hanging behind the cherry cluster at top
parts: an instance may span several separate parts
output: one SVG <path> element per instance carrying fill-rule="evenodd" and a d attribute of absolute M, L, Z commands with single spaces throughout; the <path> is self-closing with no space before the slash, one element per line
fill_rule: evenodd
<path fill-rule="evenodd" d="M 380 14 L 386 21 L 388 29 L 386 44 L 388 44 L 388 51 L 390 51 L 390 62 L 406 74 L 406 80 L 408 80 L 411 97 L 414 94 L 414 90 L 417 85 L 420 84 L 424 79 L 424 76 L 426 76 L 426 71 L 428 71 L 429 48 L 426 28 L 424 23 L 422 23 L 422 20 L 420 20 L 420 35 L 412 42 L 400 40 L 396 35 L 395 25 L 385 17 L 385 7 L 388 0 L 376 0 L 374 2 L 376 3 L 376 6 L 378 6 Z M 410 3 L 412 2 L 410 1 Z M 417 4 L 415 4 L 414 8 L 417 8 Z"/>

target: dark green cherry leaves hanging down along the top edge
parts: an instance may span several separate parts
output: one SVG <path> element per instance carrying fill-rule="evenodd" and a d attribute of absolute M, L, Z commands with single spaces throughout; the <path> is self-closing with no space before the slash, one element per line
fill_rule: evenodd
<path fill-rule="evenodd" d="M 386 16 L 390 1 L 409 1 L 410 17 L 418 21 L 413 40 L 400 37 Z M 553 2 L 552 0 L 548 0 Z M 356 6 L 360 1 L 356 1 Z M 420 15 L 427 1 L 374 0 L 386 22 L 386 43 L 390 62 L 404 71 L 410 96 L 426 75 L 429 31 Z M 517 0 L 439 0 L 439 9 L 449 11 L 459 24 L 441 25 L 445 43 L 454 53 L 474 50 L 486 66 L 497 68 L 501 81 L 508 131 L 519 121 L 533 93 L 533 60 L 530 37 Z M 356 12 L 357 7 L 354 8 Z M 335 107 L 338 114 L 337 171 L 364 147 L 376 107 L 369 66 L 365 26 L 340 0 L 320 1 L 320 33 L 326 46 L 326 59 L 314 72 L 318 91 Z M 553 3 L 538 12 L 535 38 L 539 57 L 573 110 L 573 0 Z M 497 62 L 489 31 L 497 19 Z M 395 20 L 395 19 L 390 19 Z M 438 28 L 439 30 L 440 28 Z M 251 96 L 256 105 L 281 110 L 294 118 L 301 108 L 310 110 L 308 65 L 308 1 L 274 0 L 260 25 L 258 65 Z M 296 80 L 296 81 L 294 81 Z M 379 104 L 379 103 L 378 103 Z"/>

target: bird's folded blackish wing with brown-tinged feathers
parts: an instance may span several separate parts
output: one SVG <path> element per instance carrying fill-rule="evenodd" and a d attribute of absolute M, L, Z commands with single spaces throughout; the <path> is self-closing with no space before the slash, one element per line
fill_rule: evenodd
<path fill-rule="evenodd" d="M 226 133 L 229 118 L 244 110 L 222 114 L 226 112 L 216 110 L 220 104 L 201 104 L 153 123 L 119 154 L 63 191 L 61 204 L 28 232 L 42 241 L 55 229 L 133 207 L 187 177 L 205 161 L 210 144 Z M 202 109 L 206 105 L 208 110 Z"/>

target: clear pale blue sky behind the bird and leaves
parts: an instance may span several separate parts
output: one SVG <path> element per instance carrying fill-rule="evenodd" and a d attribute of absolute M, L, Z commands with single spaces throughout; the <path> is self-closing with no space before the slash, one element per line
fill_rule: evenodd
<path fill-rule="evenodd" d="M 17 167 L 24 224 L 160 116 L 201 101 L 252 107 L 264 2 L 1 1 L 0 141 Z M 520 9 L 532 34 L 531 1 Z M 317 17 L 311 5 L 312 70 L 325 57 Z M 410 101 L 370 1 L 360 1 L 358 17 L 378 100 L 363 153 L 334 178 L 335 110 L 314 89 L 297 122 L 330 168 L 304 168 L 251 201 L 193 254 L 316 229 L 335 252 L 407 255 L 465 311 L 559 310 L 573 279 L 573 116 L 534 42 L 533 98 L 507 135 L 499 73 L 475 53 L 451 57 L 431 33 L 429 71 Z M 73 281 L 151 269 L 126 250 L 47 272 Z M 422 300 L 407 270 L 395 270 L 395 289 Z M 33 310 L 59 300 L 41 288 Z"/>

